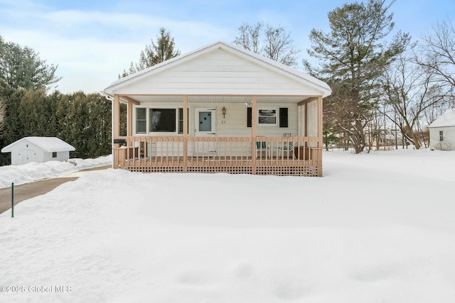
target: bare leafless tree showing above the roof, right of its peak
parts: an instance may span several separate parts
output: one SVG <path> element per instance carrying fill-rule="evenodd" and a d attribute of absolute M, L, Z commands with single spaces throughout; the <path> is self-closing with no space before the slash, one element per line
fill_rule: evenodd
<path fill-rule="evenodd" d="M 284 65 L 297 64 L 296 55 L 300 50 L 294 47 L 291 34 L 287 33 L 282 26 L 275 28 L 263 22 L 255 25 L 243 23 L 238 30 L 239 35 L 233 42 L 235 45 Z"/>

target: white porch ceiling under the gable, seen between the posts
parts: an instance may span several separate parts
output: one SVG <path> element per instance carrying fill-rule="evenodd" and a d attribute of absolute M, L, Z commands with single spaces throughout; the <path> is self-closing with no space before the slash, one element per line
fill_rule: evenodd
<path fill-rule="evenodd" d="M 142 102 L 183 102 L 183 96 L 128 96 Z M 314 96 L 257 96 L 257 103 L 299 103 Z M 251 96 L 188 96 L 188 103 L 245 103 Z"/>

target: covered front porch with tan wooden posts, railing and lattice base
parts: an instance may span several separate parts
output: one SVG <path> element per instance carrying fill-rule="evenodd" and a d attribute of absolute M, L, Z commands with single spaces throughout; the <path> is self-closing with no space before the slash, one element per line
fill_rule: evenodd
<path fill-rule="evenodd" d="M 127 136 L 119 136 L 120 102 L 127 104 Z M 156 121 L 149 116 L 149 132 L 138 133 L 137 109 L 151 112 L 163 109 L 163 104 L 176 109 L 175 131 L 152 134 L 150 124 Z M 322 175 L 322 120 L 318 118 L 322 116 L 322 96 L 115 95 L 113 113 L 114 168 Z M 201 130 L 199 118 L 203 120 L 207 113 L 211 123 Z M 261 116 L 264 113 L 270 116 Z"/>

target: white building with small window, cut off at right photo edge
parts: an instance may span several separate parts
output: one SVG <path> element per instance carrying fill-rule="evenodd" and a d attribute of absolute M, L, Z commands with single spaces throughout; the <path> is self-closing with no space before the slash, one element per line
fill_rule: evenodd
<path fill-rule="evenodd" d="M 428 129 L 431 150 L 455 150 L 455 109 L 447 110 Z"/>

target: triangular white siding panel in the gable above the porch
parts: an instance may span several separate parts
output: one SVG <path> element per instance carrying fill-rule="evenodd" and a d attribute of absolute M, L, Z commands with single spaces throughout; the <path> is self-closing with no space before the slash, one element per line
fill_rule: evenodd
<path fill-rule="evenodd" d="M 314 87 L 296 82 L 273 68 L 252 64 L 225 50 L 188 60 L 147 77 L 117 94 L 264 94 L 320 95 Z"/>

